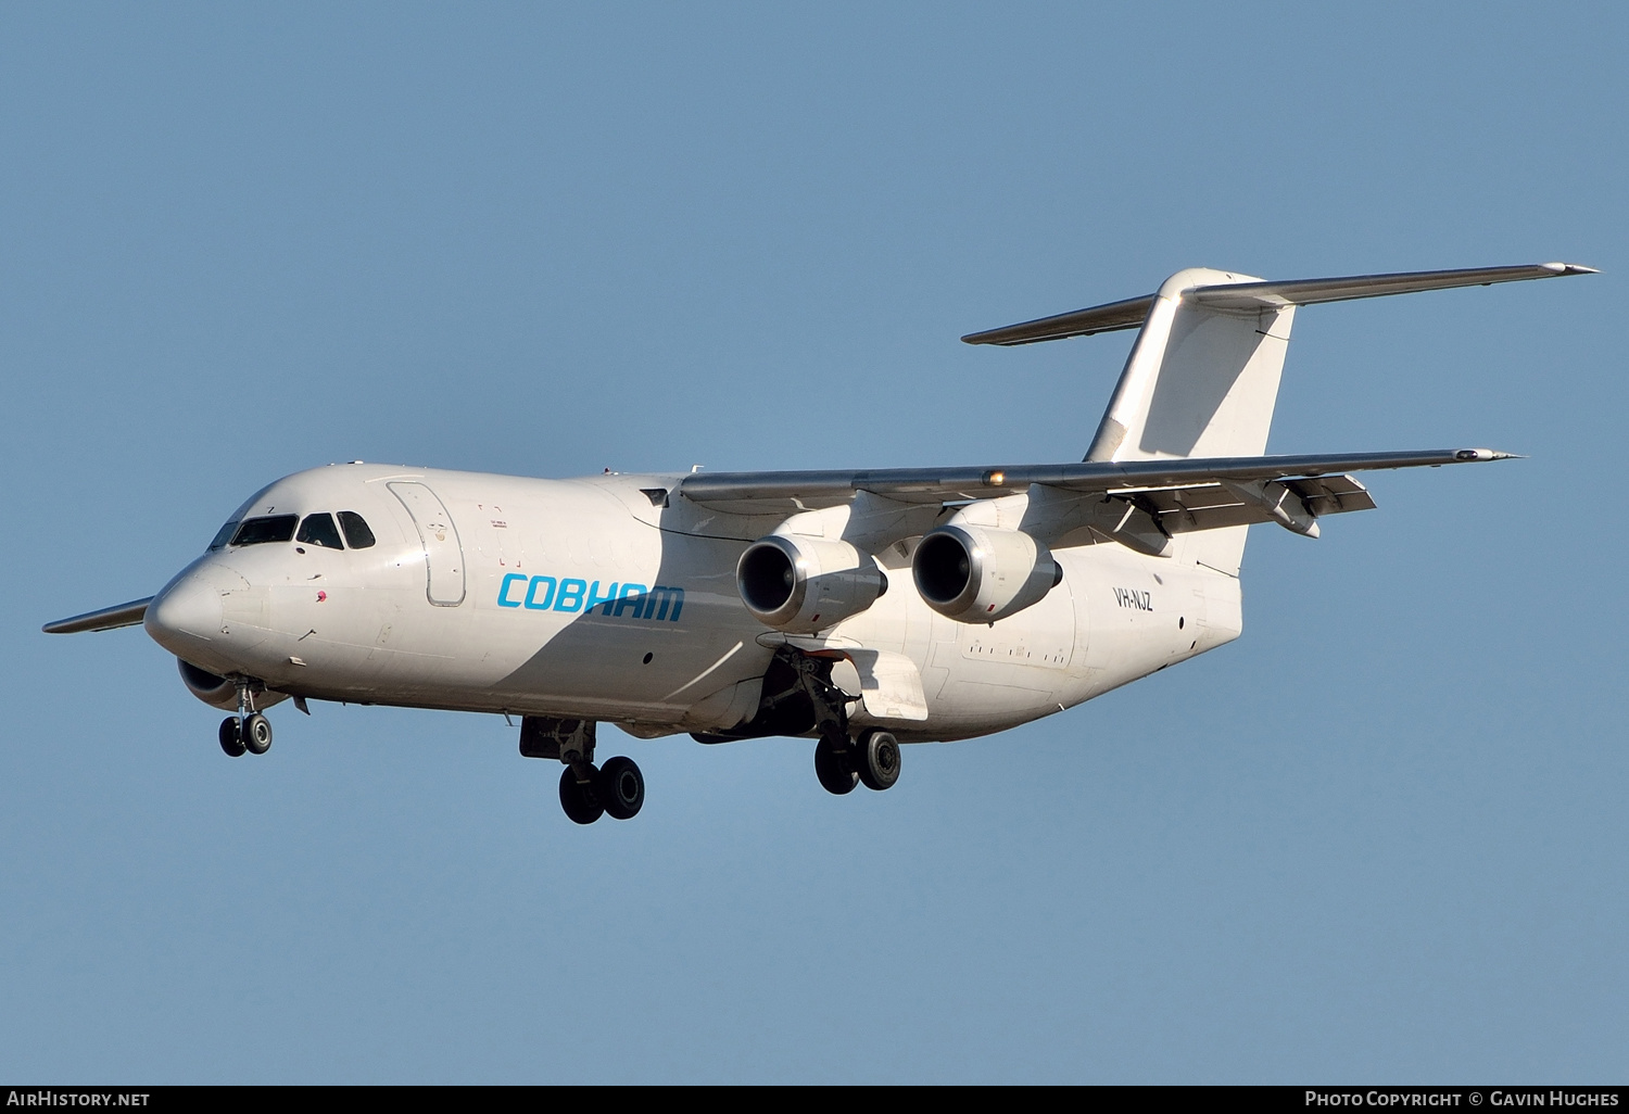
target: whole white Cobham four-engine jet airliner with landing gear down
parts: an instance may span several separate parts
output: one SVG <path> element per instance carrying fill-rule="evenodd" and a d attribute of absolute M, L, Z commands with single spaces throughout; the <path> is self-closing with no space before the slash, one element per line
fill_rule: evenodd
<path fill-rule="evenodd" d="M 1192 269 L 1157 293 L 963 337 L 1140 326 L 1083 463 L 573 480 L 388 464 L 252 495 L 163 591 L 46 625 L 145 624 L 187 689 L 264 754 L 293 699 L 521 717 L 578 824 L 629 819 L 596 725 L 702 743 L 818 739 L 832 793 L 899 777 L 899 744 L 1062 712 L 1236 638 L 1251 523 L 1318 536 L 1370 510 L 1349 472 L 1491 450 L 1262 456 L 1295 308 L 1518 278 L 1541 264 L 1302 282 Z"/>

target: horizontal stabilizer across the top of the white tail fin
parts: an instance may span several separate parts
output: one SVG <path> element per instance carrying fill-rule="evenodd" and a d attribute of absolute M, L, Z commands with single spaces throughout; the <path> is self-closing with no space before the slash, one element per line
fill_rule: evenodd
<path fill-rule="evenodd" d="M 1214 309 L 1266 309 L 1276 306 L 1311 306 L 1321 301 L 1380 298 L 1420 290 L 1451 287 L 1491 287 L 1495 282 L 1523 278 L 1557 278 L 1561 275 L 1593 275 L 1593 267 L 1579 264 L 1533 264 L 1526 267 L 1473 267 L 1469 270 L 1412 270 L 1391 275 L 1349 275 L 1344 278 L 1293 278 L 1289 282 L 1240 282 L 1188 287 L 1183 301 Z M 1157 295 L 1111 301 L 1103 306 L 1060 313 L 1038 321 L 1025 321 L 1002 329 L 971 332 L 966 344 L 1036 344 L 1065 337 L 1090 337 L 1095 332 L 1134 329 L 1144 322 Z"/>

